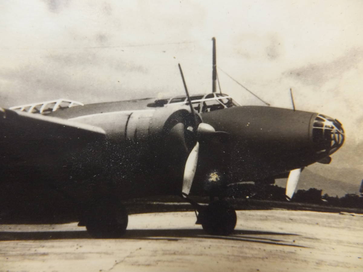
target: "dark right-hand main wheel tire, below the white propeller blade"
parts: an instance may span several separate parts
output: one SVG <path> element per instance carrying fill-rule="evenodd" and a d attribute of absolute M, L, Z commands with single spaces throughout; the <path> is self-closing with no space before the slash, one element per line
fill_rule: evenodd
<path fill-rule="evenodd" d="M 225 201 L 216 201 L 200 213 L 203 230 L 211 235 L 229 235 L 237 223 L 236 211 Z"/>

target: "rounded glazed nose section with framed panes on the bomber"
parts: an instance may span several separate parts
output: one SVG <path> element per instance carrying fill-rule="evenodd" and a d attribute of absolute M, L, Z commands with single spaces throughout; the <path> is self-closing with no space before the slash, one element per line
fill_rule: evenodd
<path fill-rule="evenodd" d="M 318 114 L 313 123 L 313 142 L 317 154 L 333 154 L 344 143 L 342 124 L 337 119 Z"/>

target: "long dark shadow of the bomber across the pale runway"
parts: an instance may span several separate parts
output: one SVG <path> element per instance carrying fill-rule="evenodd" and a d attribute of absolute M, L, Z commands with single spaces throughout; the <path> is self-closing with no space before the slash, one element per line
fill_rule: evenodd
<path fill-rule="evenodd" d="M 274 235 L 269 238 L 265 235 Z M 159 230 L 127 230 L 125 236 L 120 239 L 135 240 L 168 240 L 178 241 L 185 238 L 196 239 L 221 239 L 233 240 L 241 242 L 254 242 L 263 244 L 273 244 L 278 246 L 304 247 L 291 244 L 290 241 L 279 239 L 278 236 L 299 236 L 298 234 L 269 232 L 269 231 L 251 231 L 251 230 L 235 230 L 233 234 L 228 236 L 208 235 L 203 230 L 192 229 L 159 229 Z M 276 237 L 277 236 L 277 237 Z M 15 240 L 59 240 L 59 239 L 91 239 L 87 231 L 1 231 L 0 241 Z"/>

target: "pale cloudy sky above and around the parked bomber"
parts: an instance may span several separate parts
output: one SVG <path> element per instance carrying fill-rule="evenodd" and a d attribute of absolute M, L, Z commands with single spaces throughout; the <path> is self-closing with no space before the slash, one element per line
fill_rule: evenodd
<path fill-rule="evenodd" d="M 267 3 L 266 3 L 267 2 Z M 363 178 L 363 1 L 0 2 L 0 106 L 83 103 L 211 91 L 211 38 L 221 89 L 242 105 L 319 112 L 343 123 L 330 165 Z M 224 72 L 223 72 L 224 71 Z"/>

